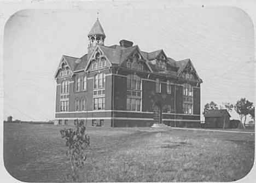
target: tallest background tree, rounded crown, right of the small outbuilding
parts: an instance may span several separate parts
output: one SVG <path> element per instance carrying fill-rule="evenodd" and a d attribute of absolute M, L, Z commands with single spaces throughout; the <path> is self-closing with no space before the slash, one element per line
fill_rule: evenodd
<path fill-rule="evenodd" d="M 238 128 L 245 128 L 246 117 L 249 114 L 249 111 L 252 110 L 253 103 L 246 100 L 246 98 L 241 98 L 236 102 L 235 111 L 240 117 L 240 124 Z M 242 119 L 245 121 L 242 123 Z"/>

